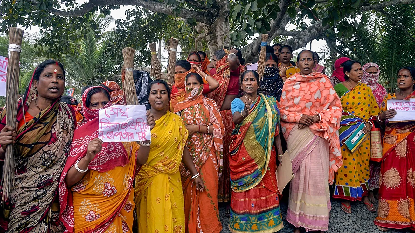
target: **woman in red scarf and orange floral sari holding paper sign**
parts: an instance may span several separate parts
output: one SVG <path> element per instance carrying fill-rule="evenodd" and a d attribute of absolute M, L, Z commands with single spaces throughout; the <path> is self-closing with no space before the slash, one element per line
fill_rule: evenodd
<path fill-rule="evenodd" d="M 104 142 L 98 138 L 98 112 L 111 107 L 110 93 L 89 87 L 82 96 L 87 120 L 75 129 L 59 184 L 61 221 L 68 232 L 132 233 L 134 177 L 146 163 L 151 141 Z M 149 128 L 154 127 L 147 113 Z"/>

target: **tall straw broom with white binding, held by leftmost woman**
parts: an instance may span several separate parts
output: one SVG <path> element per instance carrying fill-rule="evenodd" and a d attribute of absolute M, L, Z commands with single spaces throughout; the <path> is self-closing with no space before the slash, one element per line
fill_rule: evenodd
<path fill-rule="evenodd" d="M 20 52 L 22 51 L 23 30 L 15 27 L 9 29 L 9 62 L 6 75 L 6 124 L 16 129 L 17 99 L 19 98 Z M 6 147 L 2 176 L 2 200 L 7 201 L 10 193 L 16 188 L 15 156 L 13 145 Z"/>

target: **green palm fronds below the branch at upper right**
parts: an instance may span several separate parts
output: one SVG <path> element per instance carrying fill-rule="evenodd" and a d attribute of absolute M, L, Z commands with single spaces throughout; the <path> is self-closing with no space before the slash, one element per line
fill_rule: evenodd
<path fill-rule="evenodd" d="M 411 5 L 388 7 L 386 12 L 405 26 L 410 35 L 415 35 L 415 12 Z M 377 63 L 381 70 L 380 82 L 389 91 L 395 90 L 398 69 L 415 66 L 414 41 L 384 15 L 365 13 L 360 23 L 349 26 L 352 32 L 339 37 L 337 49 L 362 64 Z M 334 33 L 338 33 L 337 27 Z"/>

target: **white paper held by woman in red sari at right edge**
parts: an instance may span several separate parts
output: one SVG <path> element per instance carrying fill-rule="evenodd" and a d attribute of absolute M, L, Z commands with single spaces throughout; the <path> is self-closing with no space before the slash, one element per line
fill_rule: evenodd
<path fill-rule="evenodd" d="M 389 118 L 390 122 L 415 121 L 415 99 L 409 100 L 388 100 L 386 103 L 389 109 L 395 109 L 396 115 Z"/>

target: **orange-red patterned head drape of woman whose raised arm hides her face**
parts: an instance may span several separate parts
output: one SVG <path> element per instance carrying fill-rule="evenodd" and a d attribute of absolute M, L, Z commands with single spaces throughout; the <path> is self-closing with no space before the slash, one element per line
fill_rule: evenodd
<path fill-rule="evenodd" d="M 207 94 L 208 98 L 216 101 L 217 107 L 219 109 L 222 108 L 222 104 L 225 101 L 225 96 L 228 90 L 229 80 L 231 77 L 230 75 L 231 69 L 229 68 L 229 62 L 228 62 L 229 50 L 223 49 L 223 51 L 225 51 L 225 56 L 223 56 L 223 58 L 221 58 L 215 64 L 216 73 L 215 75 L 213 75 L 213 78 L 217 80 L 220 83 L 220 85 L 214 91 Z M 244 67 L 242 65 L 239 65 L 239 69 L 240 69 L 239 75 L 242 75 L 242 73 L 244 72 Z"/>

